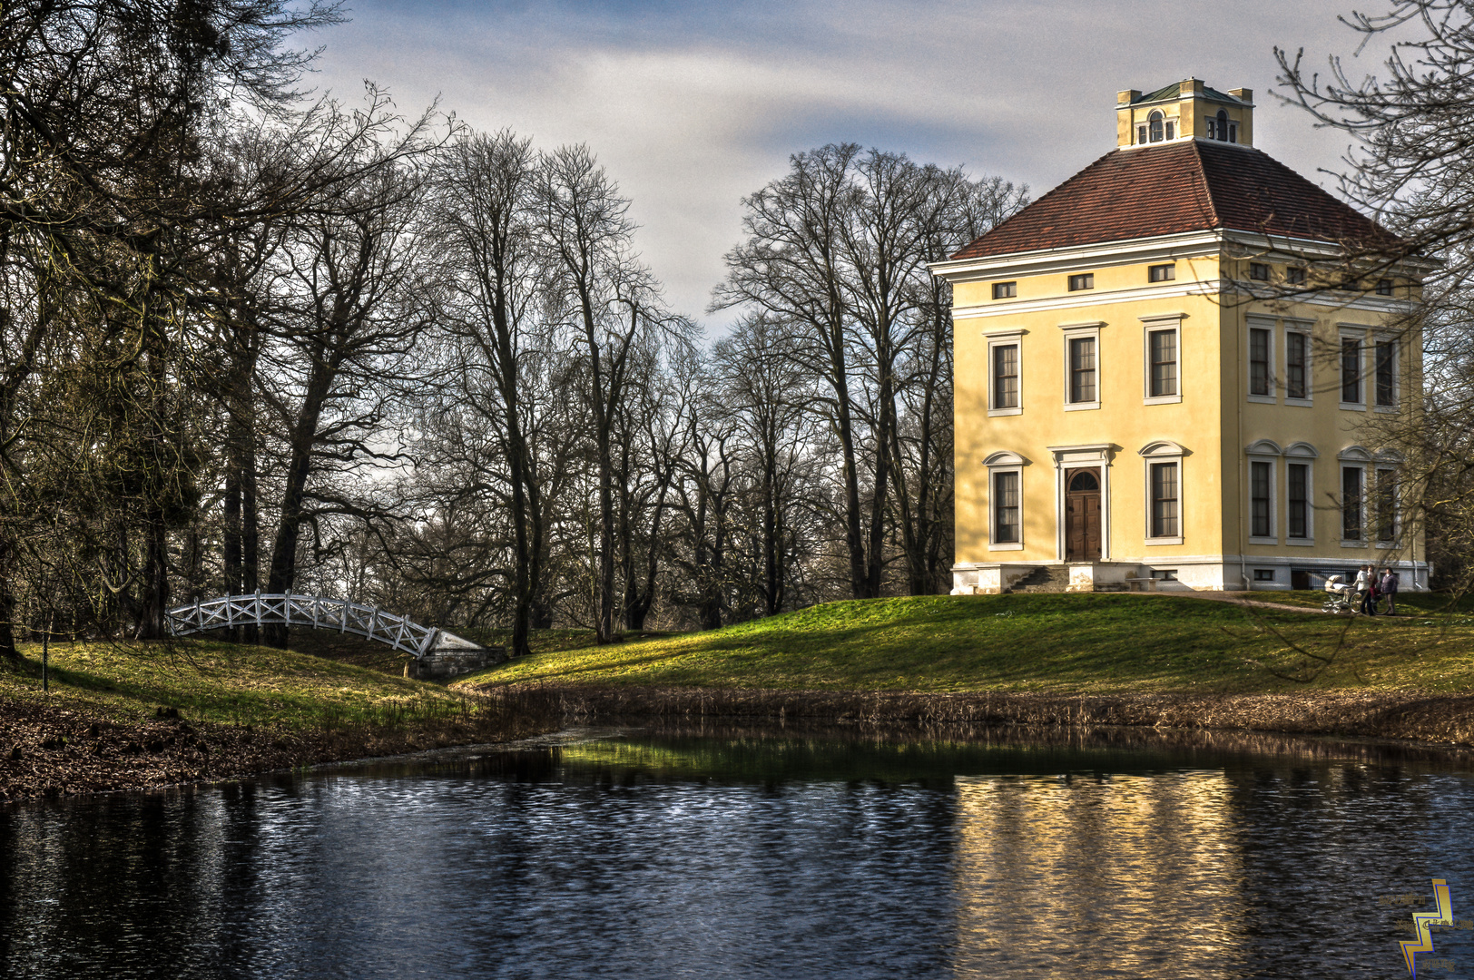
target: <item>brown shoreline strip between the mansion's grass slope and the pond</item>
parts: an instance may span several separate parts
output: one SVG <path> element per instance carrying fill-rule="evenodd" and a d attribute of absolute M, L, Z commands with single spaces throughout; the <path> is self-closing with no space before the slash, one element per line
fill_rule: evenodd
<path fill-rule="evenodd" d="M 1474 746 L 1474 694 L 1312 690 L 1281 694 L 918 694 L 598 685 L 466 685 L 479 693 L 534 691 L 557 699 L 563 718 L 662 721 L 805 721 L 880 731 L 1014 725 L 1250 731 Z"/>

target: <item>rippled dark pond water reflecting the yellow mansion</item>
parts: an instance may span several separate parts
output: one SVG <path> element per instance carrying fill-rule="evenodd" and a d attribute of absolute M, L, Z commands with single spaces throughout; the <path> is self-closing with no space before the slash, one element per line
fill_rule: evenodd
<path fill-rule="evenodd" d="M 569 732 L 0 811 L 0 976 L 1396 977 L 1471 815 L 1372 746 Z"/>

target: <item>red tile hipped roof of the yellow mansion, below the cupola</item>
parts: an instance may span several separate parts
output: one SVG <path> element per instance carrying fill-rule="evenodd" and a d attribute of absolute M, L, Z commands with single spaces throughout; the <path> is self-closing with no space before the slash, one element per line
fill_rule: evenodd
<path fill-rule="evenodd" d="M 1347 245 L 1393 237 L 1268 153 L 1184 140 L 1107 153 L 952 258 L 1212 228 Z"/>

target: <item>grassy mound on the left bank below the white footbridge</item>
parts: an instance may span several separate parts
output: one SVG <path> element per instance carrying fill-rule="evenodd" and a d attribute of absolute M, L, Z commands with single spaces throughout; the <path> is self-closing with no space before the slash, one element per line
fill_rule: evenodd
<path fill-rule="evenodd" d="M 41 647 L 0 671 L 0 697 L 41 693 Z M 283 728 L 397 724 L 460 713 L 461 696 L 321 657 L 214 641 L 53 644 L 52 699 L 118 718 L 177 707 L 200 721 Z"/>

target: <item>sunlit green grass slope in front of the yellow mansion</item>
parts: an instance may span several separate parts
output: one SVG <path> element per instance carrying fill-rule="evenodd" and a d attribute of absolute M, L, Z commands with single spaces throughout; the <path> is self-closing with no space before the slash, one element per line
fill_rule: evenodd
<path fill-rule="evenodd" d="M 1265 598 L 1281 595 L 1297 597 Z M 1474 690 L 1468 615 L 1368 620 L 1122 594 L 828 603 L 710 632 L 569 644 L 461 682 L 1247 693 L 1302 690 L 1275 675 L 1310 676 L 1316 662 L 1294 647 L 1331 659 L 1312 687 Z"/>

